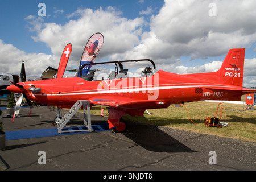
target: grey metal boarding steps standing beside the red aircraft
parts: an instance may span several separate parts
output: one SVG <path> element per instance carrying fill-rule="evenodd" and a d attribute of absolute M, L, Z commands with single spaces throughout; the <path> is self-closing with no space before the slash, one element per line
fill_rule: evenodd
<path fill-rule="evenodd" d="M 73 115 L 80 109 L 81 106 L 84 106 L 84 125 L 88 130 L 62 130 L 65 125 L 70 121 Z M 78 100 L 76 103 L 69 109 L 69 111 L 64 115 L 64 117 L 57 123 L 58 133 L 65 132 L 76 132 L 76 131 L 89 131 L 92 132 L 92 123 L 90 119 L 90 101 L 87 100 Z"/>

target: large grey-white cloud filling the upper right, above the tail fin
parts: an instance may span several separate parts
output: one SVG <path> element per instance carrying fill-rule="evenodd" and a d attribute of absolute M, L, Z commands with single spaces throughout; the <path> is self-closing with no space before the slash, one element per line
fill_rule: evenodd
<path fill-rule="evenodd" d="M 216 0 L 216 17 L 209 16 L 210 3 L 166 0 L 159 14 L 152 16 L 150 32 L 143 33 L 141 44 L 126 57 L 141 55 L 172 63 L 180 56 L 207 59 L 231 48 L 250 48 L 256 41 L 256 1 Z"/>

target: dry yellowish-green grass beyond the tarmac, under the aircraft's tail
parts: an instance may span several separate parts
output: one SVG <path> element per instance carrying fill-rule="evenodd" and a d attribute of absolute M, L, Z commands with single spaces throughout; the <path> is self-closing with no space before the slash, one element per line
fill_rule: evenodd
<path fill-rule="evenodd" d="M 221 121 L 227 122 L 228 127 L 217 129 L 216 127 L 205 127 L 205 118 L 215 116 L 218 102 L 191 102 L 186 103 L 185 106 L 192 121 L 198 126 L 190 121 L 184 105 L 177 108 L 170 105 L 167 109 L 148 109 L 147 111 L 151 115 L 145 112 L 143 117 L 125 115 L 123 119 L 256 142 L 256 110 L 245 110 L 241 104 L 223 103 Z M 100 115 L 101 107 L 93 107 L 91 111 L 92 114 Z M 104 115 L 108 116 L 108 109 L 104 109 Z M 220 118 L 220 114 L 217 113 L 216 117 Z"/>

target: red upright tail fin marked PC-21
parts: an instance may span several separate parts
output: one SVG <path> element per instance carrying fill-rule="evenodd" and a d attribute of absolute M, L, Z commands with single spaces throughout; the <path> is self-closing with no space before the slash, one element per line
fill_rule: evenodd
<path fill-rule="evenodd" d="M 243 86 L 243 65 L 245 48 L 230 49 L 221 68 L 216 72 L 219 81 L 225 84 Z"/>

